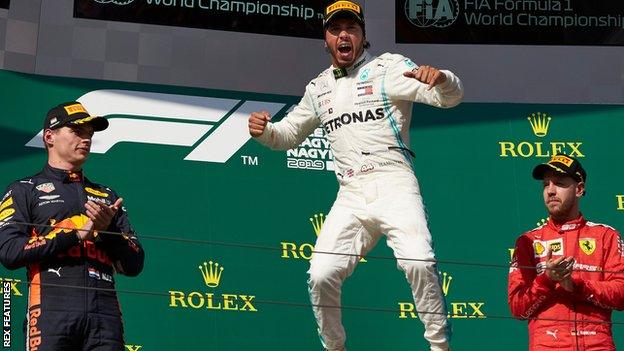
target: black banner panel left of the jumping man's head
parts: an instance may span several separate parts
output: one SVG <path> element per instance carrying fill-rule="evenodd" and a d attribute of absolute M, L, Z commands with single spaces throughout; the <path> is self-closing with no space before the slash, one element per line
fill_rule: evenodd
<path fill-rule="evenodd" d="M 322 38 L 319 0 L 75 0 L 74 17 Z"/>

